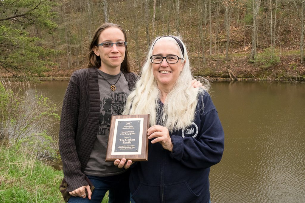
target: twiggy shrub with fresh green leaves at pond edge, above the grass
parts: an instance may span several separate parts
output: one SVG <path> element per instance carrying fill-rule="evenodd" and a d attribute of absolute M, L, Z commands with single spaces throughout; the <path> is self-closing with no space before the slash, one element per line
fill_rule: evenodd
<path fill-rule="evenodd" d="M 36 92 L 13 92 L 2 83 L 0 98 L 1 138 L 15 143 L 17 149 L 26 146 L 39 158 L 57 159 L 58 143 L 48 134 L 60 120 L 57 105 Z"/>

